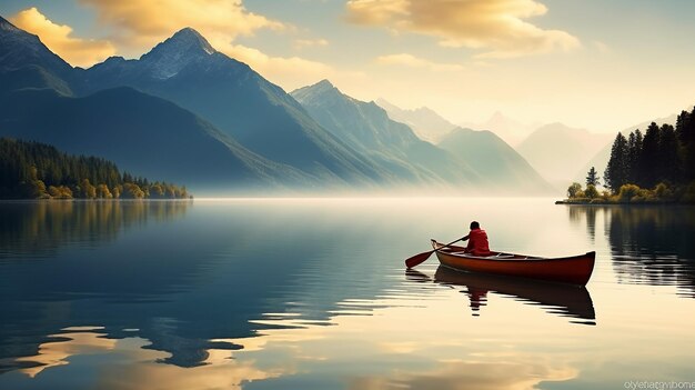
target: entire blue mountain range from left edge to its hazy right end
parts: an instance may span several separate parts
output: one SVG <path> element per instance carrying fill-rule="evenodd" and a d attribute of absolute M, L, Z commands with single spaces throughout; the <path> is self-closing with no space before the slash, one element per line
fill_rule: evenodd
<path fill-rule="evenodd" d="M 0 136 L 104 157 L 193 191 L 484 190 L 493 182 L 490 164 L 422 140 L 374 102 L 329 81 L 289 94 L 190 28 L 140 59 L 82 69 L 0 18 Z M 504 161 L 495 169 L 518 179 L 512 188 L 545 188 L 517 168 L 523 159 L 502 156 L 513 149 L 490 152 Z"/>

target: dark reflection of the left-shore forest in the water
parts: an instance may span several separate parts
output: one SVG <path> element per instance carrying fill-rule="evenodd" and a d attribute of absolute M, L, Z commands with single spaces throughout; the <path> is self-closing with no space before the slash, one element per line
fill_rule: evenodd
<path fill-rule="evenodd" d="M 97 244 L 125 228 L 182 217 L 182 201 L 3 201 L 0 261 L 51 256 L 64 244 Z"/>

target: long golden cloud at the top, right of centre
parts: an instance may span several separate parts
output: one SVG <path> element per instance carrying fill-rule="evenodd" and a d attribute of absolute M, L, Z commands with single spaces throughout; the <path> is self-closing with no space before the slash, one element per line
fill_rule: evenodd
<path fill-rule="evenodd" d="M 350 0 L 348 20 L 439 38 L 451 48 L 484 50 L 477 58 L 570 51 L 580 40 L 524 21 L 547 8 L 535 0 Z"/>

